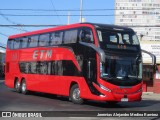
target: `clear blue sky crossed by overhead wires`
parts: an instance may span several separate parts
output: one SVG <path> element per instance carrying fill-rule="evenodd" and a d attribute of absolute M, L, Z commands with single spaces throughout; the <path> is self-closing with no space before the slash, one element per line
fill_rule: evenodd
<path fill-rule="evenodd" d="M 68 23 L 70 13 L 70 24 L 78 23 L 80 20 L 80 0 L 0 0 L 0 25 L 65 25 Z M 4 9 L 34 9 L 29 10 L 4 10 Z M 51 11 L 35 11 L 35 9 Z M 70 11 L 68 11 L 70 9 Z M 87 9 L 114 9 L 114 0 L 83 0 L 83 10 Z M 55 11 L 65 10 L 65 11 Z M 72 11 L 77 10 L 77 11 Z M 6 16 L 33 15 L 33 16 Z M 83 11 L 83 15 L 114 15 L 113 10 Z M 54 16 L 36 16 L 54 15 Z M 66 15 L 66 16 L 61 16 Z M 86 22 L 114 24 L 114 16 L 84 16 Z M 7 36 L 19 34 L 26 31 L 45 29 L 46 27 L 1 27 L 0 43 L 7 43 Z"/>

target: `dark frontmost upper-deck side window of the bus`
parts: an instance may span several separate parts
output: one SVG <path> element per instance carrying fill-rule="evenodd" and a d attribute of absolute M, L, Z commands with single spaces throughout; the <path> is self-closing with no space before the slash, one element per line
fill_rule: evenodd
<path fill-rule="evenodd" d="M 79 39 L 82 42 L 93 43 L 94 40 L 92 30 L 90 28 L 83 28 L 80 31 Z"/>

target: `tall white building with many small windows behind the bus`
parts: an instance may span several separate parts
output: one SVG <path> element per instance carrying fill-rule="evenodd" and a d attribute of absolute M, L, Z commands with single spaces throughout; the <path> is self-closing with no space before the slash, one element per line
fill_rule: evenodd
<path fill-rule="evenodd" d="M 115 0 L 115 9 L 115 24 L 132 27 L 142 40 L 160 41 L 160 0 Z"/>

